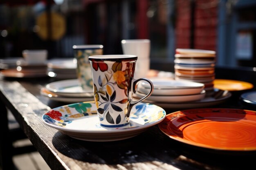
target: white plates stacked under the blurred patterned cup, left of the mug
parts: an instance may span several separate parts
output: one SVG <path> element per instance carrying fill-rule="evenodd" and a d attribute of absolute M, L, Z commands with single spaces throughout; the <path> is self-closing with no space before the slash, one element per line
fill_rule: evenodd
<path fill-rule="evenodd" d="M 41 95 L 59 102 L 93 101 L 93 89 L 83 91 L 77 79 L 67 79 L 52 82 L 41 88 Z"/>

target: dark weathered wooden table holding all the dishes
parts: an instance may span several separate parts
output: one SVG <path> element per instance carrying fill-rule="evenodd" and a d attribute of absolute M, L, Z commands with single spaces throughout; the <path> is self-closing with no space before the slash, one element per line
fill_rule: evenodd
<path fill-rule="evenodd" d="M 40 95 L 40 88 L 51 81 L 49 78 L 0 79 L 0 164 L 3 170 L 12 168 L 7 109 L 53 170 L 241 170 L 255 167 L 255 152 L 222 152 L 189 146 L 166 137 L 157 125 L 121 141 L 73 139 L 41 120 L 50 108 L 65 105 Z M 215 107 L 253 109 L 241 105 L 236 95 Z M 172 111 L 175 110 L 166 109 L 167 113 Z"/>

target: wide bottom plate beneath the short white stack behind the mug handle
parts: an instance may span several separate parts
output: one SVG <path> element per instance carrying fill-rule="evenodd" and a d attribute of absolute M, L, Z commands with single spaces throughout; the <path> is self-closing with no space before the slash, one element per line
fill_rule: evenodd
<path fill-rule="evenodd" d="M 221 96 L 218 99 L 215 99 L 214 97 L 209 96 L 209 97 L 203 98 L 200 101 L 195 101 L 195 102 L 168 103 L 168 102 L 152 102 L 147 100 L 144 100 L 144 101 L 150 102 L 162 108 L 186 109 L 186 108 L 202 108 L 202 107 L 215 106 L 215 105 L 224 103 L 227 99 L 229 99 L 229 97 L 231 97 L 230 92 L 225 93 L 225 95 Z"/>

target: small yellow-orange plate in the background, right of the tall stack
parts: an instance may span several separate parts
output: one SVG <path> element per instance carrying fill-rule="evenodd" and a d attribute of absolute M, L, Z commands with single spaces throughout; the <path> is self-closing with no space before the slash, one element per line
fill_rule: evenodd
<path fill-rule="evenodd" d="M 227 91 L 242 91 L 253 88 L 253 84 L 230 79 L 215 79 L 214 88 Z"/>

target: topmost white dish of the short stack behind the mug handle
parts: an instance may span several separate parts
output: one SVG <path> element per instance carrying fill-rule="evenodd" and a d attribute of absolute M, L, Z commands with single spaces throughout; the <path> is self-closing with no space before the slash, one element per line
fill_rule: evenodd
<path fill-rule="evenodd" d="M 153 83 L 154 85 L 154 91 L 155 89 L 177 89 L 177 88 L 180 88 L 180 89 L 184 89 L 184 88 L 203 88 L 204 87 L 204 84 L 202 83 L 195 83 L 195 82 L 189 82 L 189 81 L 177 81 L 177 80 L 172 80 L 172 79 L 150 79 L 151 82 Z M 142 86 L 144 88 L 150 88 L 150 85 L 146 82 L 141 82 L 139 85 L 138 85 L 138 88 L 139 86 Z"/>

